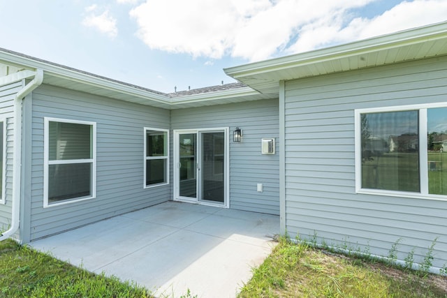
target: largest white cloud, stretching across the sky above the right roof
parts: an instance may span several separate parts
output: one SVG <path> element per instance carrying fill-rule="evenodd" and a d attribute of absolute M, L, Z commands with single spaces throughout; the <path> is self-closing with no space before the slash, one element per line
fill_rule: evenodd
<path fill-rule="evenodd" d="M 126 1 L 126 0 L 117 0 Z M 129 1 L 129 0 L 128 0 Z M 152 49 L 250 61 L 446 20 L 446 0 L 403 1 L 372 19 L 353 10 L 377 0 L 146 0 L 131 10 Z"/>

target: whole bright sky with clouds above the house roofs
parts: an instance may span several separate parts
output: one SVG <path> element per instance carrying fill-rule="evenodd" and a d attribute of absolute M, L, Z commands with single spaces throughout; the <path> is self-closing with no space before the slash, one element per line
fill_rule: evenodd
<path fill-rule="evenodd" d="M 156 91 L 447 20 L 446 0 L 0 0 L 0 47 Z"/>

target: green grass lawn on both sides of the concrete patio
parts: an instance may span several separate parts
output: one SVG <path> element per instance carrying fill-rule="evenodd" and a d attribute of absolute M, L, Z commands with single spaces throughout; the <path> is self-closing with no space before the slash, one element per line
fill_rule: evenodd
<path fill-rule="evenodd" d="M 194 290 L 182 297 L 196 297 Z M 0 297 L 151 297 L 135 283 L 91 274 L 12 240 L 0 242 Z M 447 277 L 292 244 L 274 248 L 240 297 L 447 297 Z"/>

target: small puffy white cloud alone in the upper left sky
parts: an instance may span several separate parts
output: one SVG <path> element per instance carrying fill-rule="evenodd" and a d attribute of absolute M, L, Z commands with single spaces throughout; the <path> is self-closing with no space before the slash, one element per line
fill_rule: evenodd
<path fill-rule="evenodd" d="M 95 13 L 96 10 L 98 10 L 96 4 L 85 8 L 88 14 L 82 20 L 82 25 L 95 28 L 110 38 L 115 38 L 118 35 L 117 20 L 115 17 L 110 15 L 109 10 L 104 10 L 101 14 Z"/>

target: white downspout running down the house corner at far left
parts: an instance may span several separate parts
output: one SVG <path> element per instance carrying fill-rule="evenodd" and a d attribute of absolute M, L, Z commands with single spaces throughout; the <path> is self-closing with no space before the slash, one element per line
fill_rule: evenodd
<path fill-rule="evenodd" d="M 14 155 L 13 155 L 13 204 L 11 225 L 0 235 L 0 241 L 8 239 L 20 225 L 20 188 L 22 184 L 22 100 L 43 82 L 43 70 L 36 70 L 34 79 L 15 94 L 14 98 Z M 5 144 L 6 145 L 6 144 Z M 6 158 L 6 156 L 4 157 Z M 4 186 L 3 186 L 4 187 Z"/>

